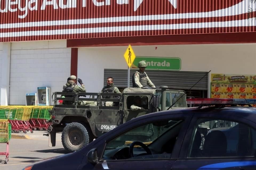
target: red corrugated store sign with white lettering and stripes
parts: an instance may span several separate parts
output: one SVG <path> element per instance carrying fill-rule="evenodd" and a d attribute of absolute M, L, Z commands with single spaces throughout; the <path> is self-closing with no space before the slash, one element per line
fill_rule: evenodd
<path fill-rule="evenodd" d="M 0 42 L 254 32 L 250 0 L 0 0 Z"/>

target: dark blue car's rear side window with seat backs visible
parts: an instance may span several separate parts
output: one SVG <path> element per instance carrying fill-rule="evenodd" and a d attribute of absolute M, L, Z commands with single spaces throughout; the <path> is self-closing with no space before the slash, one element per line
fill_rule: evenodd
<path fill-rule="evenodd" d="M 201 118 L 193 131 L 188 157 L 253 156 L 256 131 L 245 124 Z"/>

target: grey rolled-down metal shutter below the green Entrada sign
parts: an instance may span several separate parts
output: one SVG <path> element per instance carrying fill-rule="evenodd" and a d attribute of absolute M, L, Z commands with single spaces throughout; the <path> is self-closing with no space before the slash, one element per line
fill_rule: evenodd
<path fill-rule="evenodd" d="M 130 70 L 130 87 L 132 87 L 132 75 L 135 71 Z M 107 77 L 113 77 L 115 86 L 127 87 L 127 73 L 128 70 L 126 69 L 104 69 L 104 80 Z M 156 87 L 168 86 L 172 89 L 190 89 L 207 72 L 146 70 L 146 73 Z M 207 84 L 208 75 L 198 82 L 192 90 L 207 90 Z M 106 86 L 105 81 L 104 86 Z"/>

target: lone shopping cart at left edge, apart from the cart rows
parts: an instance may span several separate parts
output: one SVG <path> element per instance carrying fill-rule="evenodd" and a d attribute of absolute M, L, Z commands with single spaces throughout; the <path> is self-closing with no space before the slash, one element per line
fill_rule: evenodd
<path fill-rule="evenodd" d="M 9 160 L 9 140 L 11 139 L 11 124 L 7 119 L 0 119 L 0 143 L 6 143 L 6 152 L 0 152 L 5 155 L 5 164 Z"/>

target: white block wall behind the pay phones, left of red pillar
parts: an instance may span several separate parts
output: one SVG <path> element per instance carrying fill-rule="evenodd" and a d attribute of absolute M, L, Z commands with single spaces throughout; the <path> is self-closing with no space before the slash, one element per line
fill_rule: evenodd
<path fill-rule="evenodd" d="M 37 87 L 50 87 L 51 94 L 62 91 L 70 58 L 66 40 L 11 43 L 9 105 L 25 105 L 26 93 L 37 92 Z"/>

